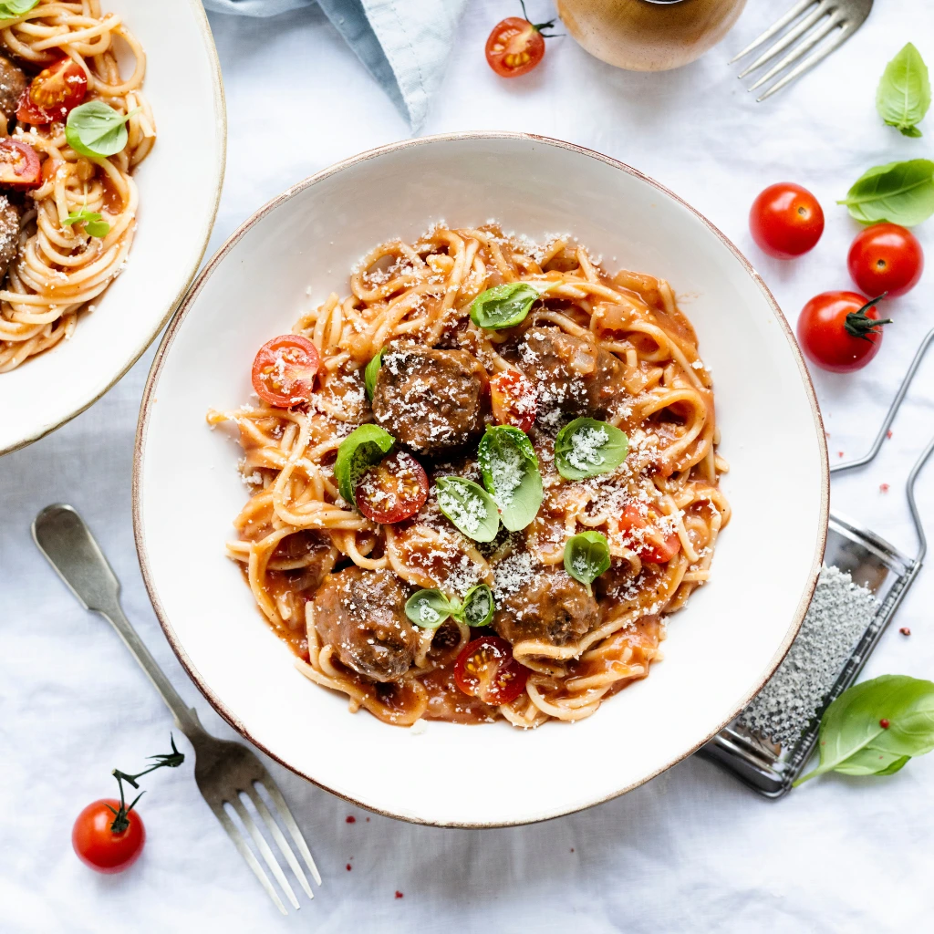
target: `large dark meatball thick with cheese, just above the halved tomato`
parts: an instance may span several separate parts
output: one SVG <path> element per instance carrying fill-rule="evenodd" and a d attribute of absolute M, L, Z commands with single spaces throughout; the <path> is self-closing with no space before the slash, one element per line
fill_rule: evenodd
<path fill-rule="evenodd" d="M 376 423 L 432 454 L 466 444 L 483 427 L 486 372 L 464 350 L 390 347 L 373 391 Z"/>

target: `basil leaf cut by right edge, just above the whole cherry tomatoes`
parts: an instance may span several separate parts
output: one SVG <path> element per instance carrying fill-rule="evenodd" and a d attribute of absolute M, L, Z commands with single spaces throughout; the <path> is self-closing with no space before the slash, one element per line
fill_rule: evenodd
<path fill-rule="evenodd" d="M 837 204 L 846 205 L 850 216 L 864 224 L 888 221 L 914 227 L 934 214 L 934 163 L 910 159 L 876 165 Z"/>

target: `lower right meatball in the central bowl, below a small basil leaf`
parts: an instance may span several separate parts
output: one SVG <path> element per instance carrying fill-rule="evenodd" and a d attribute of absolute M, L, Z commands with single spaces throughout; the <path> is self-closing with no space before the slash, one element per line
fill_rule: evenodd
<path fill-rule="evenodd" d="M 568 573 L 540 571 L 516 593 L 497 600 L 493 629 L 512 644 L 534 639 L 566 645 L 600 621 L 600 604 Z"/>

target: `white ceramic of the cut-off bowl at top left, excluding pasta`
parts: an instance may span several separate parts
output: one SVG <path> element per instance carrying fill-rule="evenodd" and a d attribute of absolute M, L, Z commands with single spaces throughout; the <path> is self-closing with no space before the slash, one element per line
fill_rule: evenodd
<path fill-rule="evenodd" d="M 147 54 L 158 139 L 134 172 L 138 227 L 126 268 L 71 340 L 0 374 L 0 454 L 83 412 L 149 347 L 177 308 L 218 209 L 227 138 L 220 67 L 201 0 L 104 0 Z"/>

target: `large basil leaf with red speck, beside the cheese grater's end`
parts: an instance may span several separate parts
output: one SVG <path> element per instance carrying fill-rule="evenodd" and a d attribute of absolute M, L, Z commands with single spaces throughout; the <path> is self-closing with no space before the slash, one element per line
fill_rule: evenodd
<path fill-rule="evenodd" d="M 818 748 L 820 765 L 795 785 L 828 771 L 894 774 L 934 749 L 934 683 L 884 674 L 850 687 L 822 717 Z"/>

